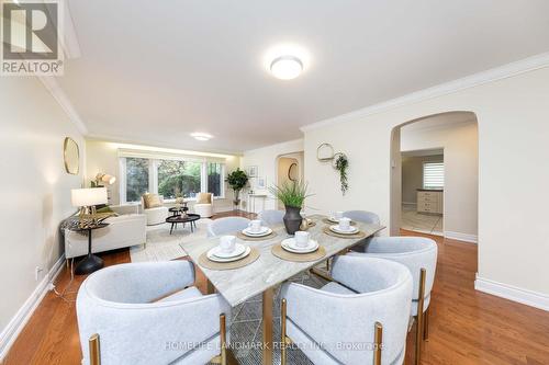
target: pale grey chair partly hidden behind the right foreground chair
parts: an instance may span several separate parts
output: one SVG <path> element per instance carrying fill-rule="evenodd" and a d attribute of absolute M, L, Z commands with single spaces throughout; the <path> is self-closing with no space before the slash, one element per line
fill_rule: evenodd
<path fill-rule="evenodd" d="M 416 364 L 419 364 L 422 338 L 423 340 L 428 338 L 428 308 L 437 269 L 437 243 L 429 238 L 373 237 L 362 248 L 361 253 L 349 253 L 349 255 L 396 261 L 408 267 L 414 278 L 411 315 L 417 320 Z"/>

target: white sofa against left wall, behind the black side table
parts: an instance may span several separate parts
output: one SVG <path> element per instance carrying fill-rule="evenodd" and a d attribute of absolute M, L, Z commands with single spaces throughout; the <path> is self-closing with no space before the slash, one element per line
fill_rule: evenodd
<path fill-rule="evenodd" d="M 117 212 L 116 207 L 112 207 Z M 120 209 L 127 212 L 125 207 Z M 143 244 L 147 240 L 147 217 L 144 214 L 124 214 L 105 219 L 109 226 L 92 231 L 91 251 L 103 252 Z M 67 259 L 88 253 L 88 235 L 65 230 L 65 256 Z"/>

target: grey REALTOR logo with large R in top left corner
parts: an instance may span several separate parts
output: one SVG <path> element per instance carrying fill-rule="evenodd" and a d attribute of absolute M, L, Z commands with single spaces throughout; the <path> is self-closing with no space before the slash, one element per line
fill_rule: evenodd
<path fill-rule="evenodd" d="M 58 1 L 2 2 L 2 76 L 63 75 Z"/>

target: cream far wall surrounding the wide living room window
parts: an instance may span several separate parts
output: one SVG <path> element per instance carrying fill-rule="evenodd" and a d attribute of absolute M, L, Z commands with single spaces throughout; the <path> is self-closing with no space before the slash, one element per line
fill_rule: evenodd
<path fill-rule="evenodd" d="M 90 181 L 94 179 L 98 172 L 104 172 L 113 174 L 116 176 L 116 182 L 110 185 L 109 196 L 111 197 L 110 204 L 120 204 L 120 163 L 119 163 L 119 144 L 103 140 L 87 139 L 86 150 L 87 150 L 87 170 L 86 170 L 86 184 L 89 186 Z M 138 152 L 138 150 L 135 150 Z M 145 153 L 154 153 L 150 151 L 144 151 Z M 164 153 L 164 152 L 163 152 Z M 166 155 L 166 153 L 164 153 Z M 186 155 L 188 156 L 188 155 Z M 192 156 L 189 156 L 192 157 Z M 192 157 L 199 158 L 199 157 Z M 202 158 L 202 157 L 200 157 Z M 220 160 L 219 158 L 215 159 Z M 225 163 L 225 176 L 227 172 L 231 172 L 240 166 L 240 158 L 238 156 L 231 156 L 224 160 L 220 160 Z M 233 208 L 233 191 L 225 183 L 225 198 L 215 199 L 214 209 L 215 212 L 225 212 Z M 193 203 L 189 204 L 189 208 L 192 210 Z"/>

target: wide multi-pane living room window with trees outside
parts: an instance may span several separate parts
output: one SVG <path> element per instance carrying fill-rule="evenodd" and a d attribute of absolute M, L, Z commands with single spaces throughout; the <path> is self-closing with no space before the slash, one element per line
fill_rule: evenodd
<path fill-rule="evenodd" d="M 194 198 L 200 192 L 224 197 L 224 169 L 220 162 L 121 157 L 121 201 L 138 202 L 146 193 L 166 201 Z M 123 181 L 125 180 L 125 181 Z"/>

